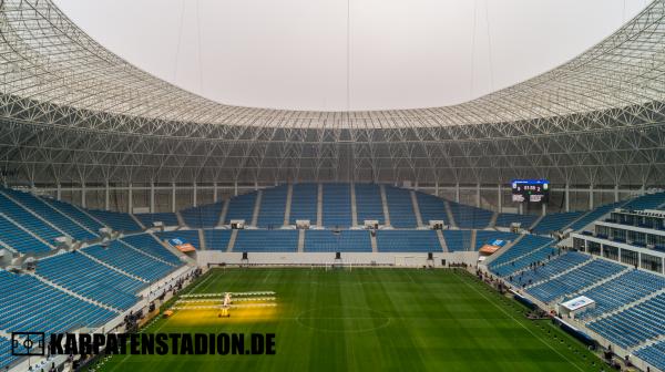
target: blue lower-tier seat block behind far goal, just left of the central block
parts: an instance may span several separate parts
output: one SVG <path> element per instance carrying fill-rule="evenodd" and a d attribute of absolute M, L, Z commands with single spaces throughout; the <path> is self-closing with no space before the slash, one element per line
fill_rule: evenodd
<path fill-rule="evenodd" d="M 233 250 L 295 252 L 298 250 L 298 230 L 238 230 Z"/>

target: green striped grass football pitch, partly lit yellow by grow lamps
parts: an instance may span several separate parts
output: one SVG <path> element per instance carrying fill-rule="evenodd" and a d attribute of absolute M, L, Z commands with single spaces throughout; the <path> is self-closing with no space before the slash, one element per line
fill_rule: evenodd
<path fill-rule="evenodd" d="M 152 333 L 275 333 L 274 355 L 113 355 L 101 371 L 601 371 L 550 321 L 464 271 L 213 269 L 183 292 L 275 291 L 277 306 L 176 310 Z"/>

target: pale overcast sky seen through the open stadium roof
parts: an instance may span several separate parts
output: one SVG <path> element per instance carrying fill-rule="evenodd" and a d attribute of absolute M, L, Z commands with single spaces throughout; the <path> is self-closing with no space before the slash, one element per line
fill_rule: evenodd
<path fill-rule="evenodd" d="M 647 1 L 55 3 L 129 62 L 211 100 L 344 111 L 449 105 L 512 85 L 603 40 Z"/>

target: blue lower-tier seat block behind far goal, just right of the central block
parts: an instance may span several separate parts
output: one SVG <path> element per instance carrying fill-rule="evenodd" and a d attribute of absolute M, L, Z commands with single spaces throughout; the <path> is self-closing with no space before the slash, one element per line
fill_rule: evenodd
<path fill-rule="evenodd" d="M 380 252 L 441 252 L 434 230 L 378 230 L 377 247 Z"/>

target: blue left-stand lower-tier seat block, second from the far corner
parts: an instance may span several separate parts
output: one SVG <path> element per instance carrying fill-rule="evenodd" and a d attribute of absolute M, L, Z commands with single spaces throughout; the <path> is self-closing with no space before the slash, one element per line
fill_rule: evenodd
<path fill-rule="evenodd" d="M 96 245 L 84 248 L 83 251 L 123 270 L 124 272 L 129 272 L 151 282 L 162 279 L 175 269 L 171 265 L 163 264 L 137 252 L 119 240 L 111 241 L 109 247 Z"/>

